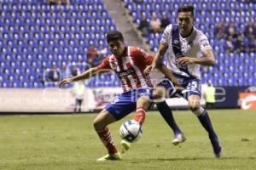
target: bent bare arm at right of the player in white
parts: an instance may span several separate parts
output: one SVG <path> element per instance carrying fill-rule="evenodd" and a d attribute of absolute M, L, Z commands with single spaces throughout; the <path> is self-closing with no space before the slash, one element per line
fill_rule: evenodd
<path fill-rule="evenodd" d="M 195 58 L 194 63 L 199 65 L 215 65 L 216 60 L 214 58 L 214 54 L 212 52 L 212 49 L 207 49 L 202 52 L 204 54 L 204 57 L 201 58 Z"/>

